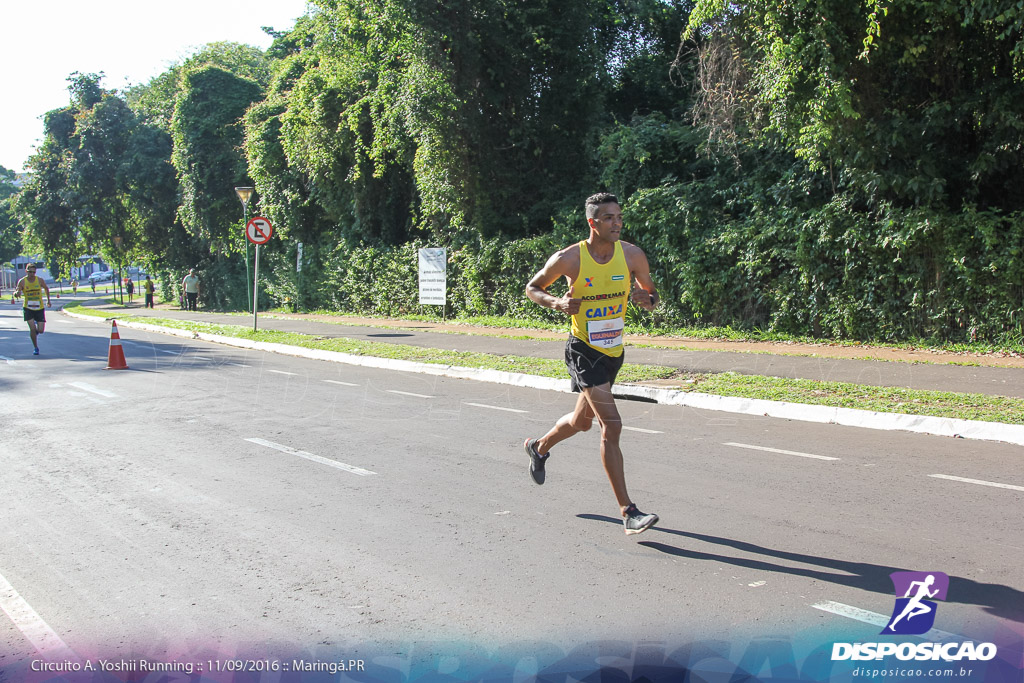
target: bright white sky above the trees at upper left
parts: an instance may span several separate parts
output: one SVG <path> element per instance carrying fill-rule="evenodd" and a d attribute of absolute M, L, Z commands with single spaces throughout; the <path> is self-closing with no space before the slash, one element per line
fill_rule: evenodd
<path fill-rule="evenodd" d="M 305 0 L 5 0 L 0 10 L 0 166 L 25 171 L 42 116 L 66 106 L 68 77 L 98 74 L 108 89 L 147 83 L 207 43 L 266 49 L 261 26 L 286 31 Z"/>

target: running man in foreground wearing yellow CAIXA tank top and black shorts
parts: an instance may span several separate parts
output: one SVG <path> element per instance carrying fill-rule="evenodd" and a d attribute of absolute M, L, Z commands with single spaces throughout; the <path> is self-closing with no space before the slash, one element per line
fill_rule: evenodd
<path fill-rule="evenodd" d="M 596 417 L 601 425 L 601 463 L 626 532 L 640 533 L 657 522 L 657 515 L 640 512 L 626 490 L 618 446 L 623 421 L 611 385 L 623 367 L 623 328 L 632 283 L 636 282 L 633 302 L 641 308 L 653 310 L 658 296 L 643 250 L 618 239 L 623 210 L 615 196 L 594 195 L 587 198 L 585 206 L 590 237 L 553 254 L 526 285 L 526 296 L 532 301 L 572 319 L 565 365 L 572 391 L 580 396 L 571 413 L 562 416 L 541 438 L 527 438 L 524 445 L 529 474 L 536 483 L 543 484 L 551 449 L 590 429 Z M 559 278 L 565 278 L 569 288 L 564 296 L 556 297 L 547 290 Z"/>

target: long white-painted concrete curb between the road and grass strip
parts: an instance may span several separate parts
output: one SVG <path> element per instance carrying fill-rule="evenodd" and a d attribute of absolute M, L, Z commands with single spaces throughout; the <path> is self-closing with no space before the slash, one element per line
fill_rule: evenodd
<path fill-rule="evenodd" d="M 80 319 L 98 322 L 98 318 L 92 315 L 82 315 L 81 313 L 73 313 L 70 311 L 62 312 L 66 315 L 71 315 Z M 245 339 L 236 339 L 233 337 L 221 337 L 219 335 L 194 333 L 185 330 L 175 330 L 173 328 L 163 328 L 145 323 L 119 323 L 118 325 L 123 328 L 132 328 L 135 330 L 172 335 L 187 339 L 199 339 L 201 341 L 234 346 L 237 348 L 270 351 L 272 353 L 312 358 L 314 360 L 344 362 L 351 366 L 361 366 L 364 368 L 395 370 L 399 372 L 451 377 L 455 379 L 493 382 L 496 384 L 509 384 L 513 386 L 543 389 L 547 391 L 561 391 L 565 393 L 570 391 L 569 381 L 567 379 L 552 379 L 548 377 L 537 377 L 535 375 L 508 373 L 498 370 L 480 370 L 475 368 L 462 368 L 459 366 L 442 366 L 438 364 L 416 362 L 413 360 L 397 360 L 392 358 L 378 358 L 375 356 L 352 355 L 350 353 L 341 353 L 339 351 L 307 349 L 300 346 L 289 346 L 287 344 L 273 344 L 269 342 L 252 342 Z M 1004 441 L 1016 445 L 1024 445 L 1024 425 L 1008 425 L 996 422 L 981 422 L 977 420 L 955 420 L 951 418 L 904 415 L 901 413 L 877 413 L 873 411 L 860 411 L 850 408 L 808 405 L 804 403 L 763 400 L 760 398 L 717 396 L 714 394 L 679 391 L 676 389 L 662 389 L 642 385 L 618 385 L 614 389 L 614 394 L 616 397 L 646 400 L 665 405 L 680 405 L 685 408 L 735 413 L 740 415 L 758 415 L 784 420 L 798 420 L 801 422 L 836 424 L 847 427 L 860 427 L 863 429 L 909 431 L 936 436 L 949 436 L 984 441 Z"/>

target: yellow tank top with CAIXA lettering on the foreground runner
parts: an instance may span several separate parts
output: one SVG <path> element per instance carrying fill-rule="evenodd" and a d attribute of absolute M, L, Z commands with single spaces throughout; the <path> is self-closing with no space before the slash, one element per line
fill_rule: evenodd
<path fill-rule="evenodd" d="M 623 327 L 626 301 L 630 294 L 630 269 L 621 242 L 607 263 L 598 263 L 580 243 L 580 276 L 572 297 L 583 299 L 580 312 L 572 316 L 572 336 L 593 349 L 617 357 L 623 354 Z"/>

